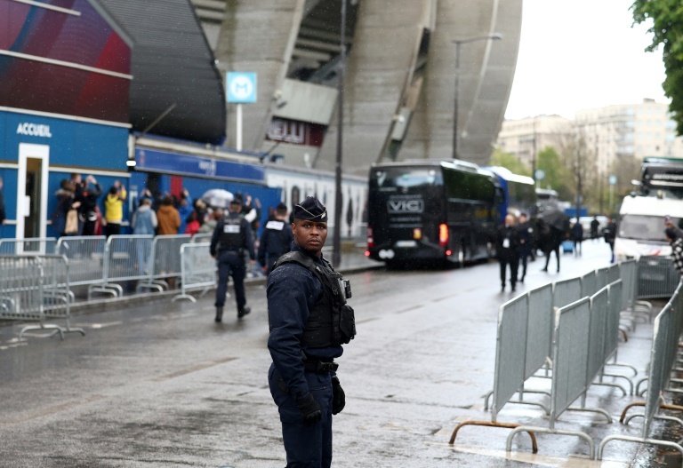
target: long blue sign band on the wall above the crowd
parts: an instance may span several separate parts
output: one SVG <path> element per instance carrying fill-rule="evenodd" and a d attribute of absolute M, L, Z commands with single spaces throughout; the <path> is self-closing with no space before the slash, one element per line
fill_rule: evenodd
<path fill-rule="evenodd" d="M 156 149 L 135 149 L 135 169 L 181 176 L 222 178 L 235 181 L 263 183 L 265 171 L 260 165 L 231 163 L 212 158 L 180 155 Z"/>

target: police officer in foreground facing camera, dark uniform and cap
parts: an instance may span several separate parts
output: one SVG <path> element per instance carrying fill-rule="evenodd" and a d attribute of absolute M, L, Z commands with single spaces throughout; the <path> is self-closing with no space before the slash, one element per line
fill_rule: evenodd
<path fill-rule="evenodd" d="M 332 416 L 345 405 L 337 377 L 342 345 L 356 334 L 350 287 L 323 258 L 327 211 L 314 197 L 294 205 L 293 248 L 268 279 L 268 380 L 290 468 L 332 463 Z"/>

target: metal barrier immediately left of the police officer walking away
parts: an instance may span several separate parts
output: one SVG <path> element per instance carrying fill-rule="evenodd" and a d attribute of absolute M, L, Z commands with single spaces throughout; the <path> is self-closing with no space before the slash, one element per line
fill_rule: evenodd
<path fill-rule="evenodd" d="M 189 290 L 216 287 L 216 260 L 209 255 L 210 242 L 184 243 L 181 245 L 181 294 L 173 297 L 197 302 Z"/>

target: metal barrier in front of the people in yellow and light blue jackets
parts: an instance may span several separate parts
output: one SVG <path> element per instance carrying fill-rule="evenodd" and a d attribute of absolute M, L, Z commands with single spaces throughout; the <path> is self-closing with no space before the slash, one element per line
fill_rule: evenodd
<path fill-rule="evenodd" d="M 141 265 L 144 264 L 145 252 L 151 251 L 152 235 L 112 235 L 108 237 L 104 250 L 104 266 L 102 279 L 97 284 L 88 286 L 88 300 L 92 292 L 123 296 L 124 289 L 117 282 L 146 280 Z"/>

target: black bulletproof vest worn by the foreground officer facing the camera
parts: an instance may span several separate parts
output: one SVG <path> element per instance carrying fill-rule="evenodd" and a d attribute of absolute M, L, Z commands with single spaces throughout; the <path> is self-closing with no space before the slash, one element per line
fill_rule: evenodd
<path fill-rule="evenodd" d="M 323 294 L 313 305 L 303 329 L 301 345 L 326 348 L 349 343 L 356 336 L 356 318 L 353 309 L 346 304 L 342 274 L 336 273 L 325 261 L 323 265 L 317 264 L 299 251 L 288 252 L 278 258 L 273 270 L 291 262 L 307 268 L 323 285 Z"/>

